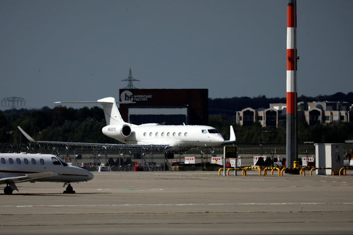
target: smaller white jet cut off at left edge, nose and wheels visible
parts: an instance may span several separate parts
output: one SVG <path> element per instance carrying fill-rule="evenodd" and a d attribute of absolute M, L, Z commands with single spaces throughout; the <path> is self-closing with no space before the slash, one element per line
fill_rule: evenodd
<path fill-rule="evenodd" d="M 93 174 L 70 166 L 52 154 L 0 153 L 0 184 L 7 184 L 4 193 L 17 190 L 15 183 L 63 182 L 64 193 L 75 193 L 70 183 L 93 179 Z"/>

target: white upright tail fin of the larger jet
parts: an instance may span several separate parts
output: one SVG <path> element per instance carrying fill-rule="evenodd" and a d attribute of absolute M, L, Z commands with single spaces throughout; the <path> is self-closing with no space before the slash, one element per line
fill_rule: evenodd
<path fill-rule="evenodd" d="M 105 121 L 107 125 L 116 125 L 120 123 L 125 123 L 119 110 L 116 107 L 115 99 L 112 97 L 103 98 L 97 100 L 104 110 Z"/>

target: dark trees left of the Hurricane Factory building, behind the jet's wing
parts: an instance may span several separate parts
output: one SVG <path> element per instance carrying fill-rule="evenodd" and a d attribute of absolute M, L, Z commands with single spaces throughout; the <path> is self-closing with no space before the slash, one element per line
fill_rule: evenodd
<path fill-rule="evenodd" d="M 57 106 L 21 114 L 0 112 L 0 142 L 27 143 L 17 128 L 21 126 L 35 140 L 114 143 L 114 139 L 102 134 L 105 125 L 103 109 L 99 107 Z"/>

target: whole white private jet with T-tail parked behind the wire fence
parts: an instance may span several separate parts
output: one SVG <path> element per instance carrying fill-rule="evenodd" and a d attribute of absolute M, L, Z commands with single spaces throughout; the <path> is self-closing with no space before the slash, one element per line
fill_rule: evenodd
<path fill-rule="evenodd" d="M 166 150 L 190 149 L 193 147 L 213 147 L 224 143 L 236 141 L 236 134 L 230 126 L 230 138 L 224 140 L 223 136 L 211 126 L 199 125 L 160 125 L 147 123 L 135 125 L 123 120 L 116 103 L 112 97 L 107 97 L 94 102 L 55 102 L 56 104 L 101 104 L 103 106 L 106 126 L 102 128 L 104 135 L 119 140 L 126 144 L 101 144 L 101 143 L 76 143 L 57 141 L 36 141 L 21 127 L 18 127 L 28 140 L 38 143 L 59 143 L 72 145 L 95 146 L 151 146 L 165 148 Z"/>

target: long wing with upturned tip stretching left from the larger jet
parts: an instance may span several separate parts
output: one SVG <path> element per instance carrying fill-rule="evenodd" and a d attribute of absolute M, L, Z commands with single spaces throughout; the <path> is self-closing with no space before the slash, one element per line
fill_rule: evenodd
<path fill-rule="evenodd" d="M 135 149 L 146 149 L 146 148 L 167 148 L 168 144 L 150 144 L 150 145 L 138 145 L 138 144 L 115 144 L 115 143 L 84 143 L 84 142 L 63 142 L 63 141 L 37 141 L 27 134 L 20 126 L 18 129 L 26 136 L 26 138 L 34 143 L 51 143 L 51 144 L 64 144 L 64 145 L 83 145 L 83 146 L 99 146 L 99 147 L 115 147 L 115 148 L 135 148 Z"/>

